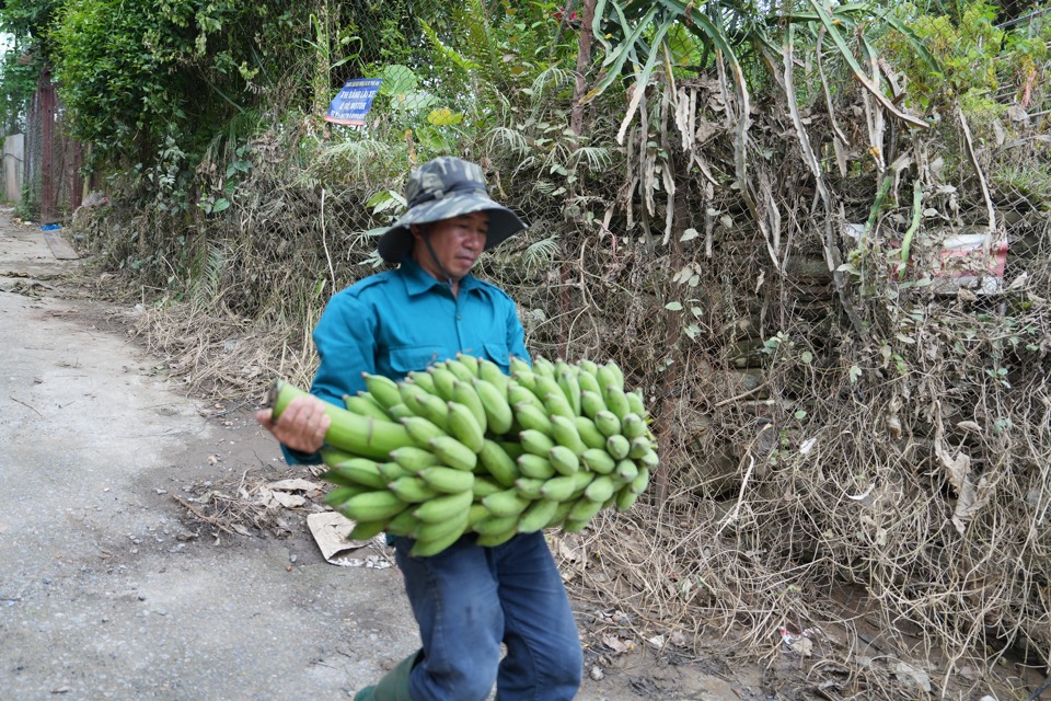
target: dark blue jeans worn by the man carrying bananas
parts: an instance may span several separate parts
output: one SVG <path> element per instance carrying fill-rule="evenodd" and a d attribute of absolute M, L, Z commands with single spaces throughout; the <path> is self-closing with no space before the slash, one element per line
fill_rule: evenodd
<path fill-rule="evenodd" d="M 411 558 L 411 538 L 394 542 L 424 646 L 413 701 L 484 701 L 494 682 L 499 701 L 573 699 L 584 654 L 543 532 L 496 548 L 474 540 L 431 558 Z"/>

